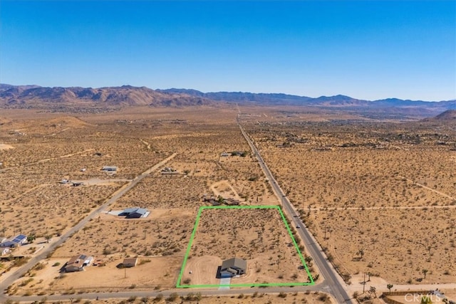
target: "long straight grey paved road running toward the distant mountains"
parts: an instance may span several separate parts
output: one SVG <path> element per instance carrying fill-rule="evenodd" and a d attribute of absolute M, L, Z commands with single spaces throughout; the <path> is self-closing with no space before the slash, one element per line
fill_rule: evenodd
<path fill-rule="evenodd" d="M 304 223 L 299 219 L 298 214 L 291 206 L 289 199 L 285 196 L 282 189 L 277 184 L 276 179 L 274 179 L 271 171 L 267 167 L 267 164 L 264 162 L 263 158 L 259 154 L 257 147 L 253 144 L 252 140 L 250 139 L 247 132 L 245 132 L 242 125 L 239 124 L 239 129 L 244 135 L 245 139 L 249 143 L 250 149 L 254 152 L 255 156 L 258 159 L 261 169 L 263 170 L 264 174 L 266 175 L 267 179 L 269 179 L 269 183 L 271 183 L 272 189 L 278 197 L 281 199 L 282 208 L 284 209 L 285 213 L 288 214 L 291 221 L 294 222 L 295 226 L 300 226 L 300 229 L 297 229 L 301 239 L 304 240 L 304 246 L 306 246 L 307 250 L 311 254 L 312 258 L 314 258 L 314 262 L 316 266 L 320 269 L 321 275 L 325 279 L 325 283 L 328 286 L 328 293 L 331 293 L 334 298 L 336 298 L 337 303 L 352 303 L 351 298 L 348 296 L 346 290 L 343 288 L 343 283 L 341 283 L 341 278 L 338 276 L 338 273 L 334 270 L 331 263 L 329 263 L 326 259 L 326 255 L 321 251 L 321 247 L 318 245 L 314 237 L 311 235 L 309 230 L 307 230 Z"/>

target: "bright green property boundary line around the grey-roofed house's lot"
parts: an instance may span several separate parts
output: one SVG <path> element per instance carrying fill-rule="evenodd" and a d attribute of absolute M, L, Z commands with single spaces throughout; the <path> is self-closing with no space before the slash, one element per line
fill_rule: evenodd
<path fill-rule="evenodd" d="M 294 248 L 296 248 L 299 258 L 301 258 L 302 265 L 306 269 L 306 273 L 307 273 L 307 276 L 309 277 L 310 282 L 181 285 L 180 282 L 182 281 L 182 276 L 185 271 L 185 266 L 187 265 L 187 259 L 190 254 L 190 250 L 192 248 L 193 240 L 195 239 L 195 234 L 196 234 L 197 227 L 199 224 L 199 218 L 202 214 L 202 211 L 204 211 L 205 209 L 277 209 L 282 218 L 282 221 L 284 221 L 286 230 L 288 231 L 289 236 L 291 237 L 291 240 L 293 241 Z M 309 268 L 307 267 L 306 261 L 304 260 L 304 257 L 302 256 L 302 253 L 299 250 L 298 243 L 296 243 L 296 240 L 294 239 L 293 233 L 291 232 L 289 224 L 286 222 L 284 212 L 282 212 L 280 206 L 201 206 L 201 207 L 199 207 L 197 219 L 195 221 L 195 226 L 193 226 L 192 236 L 190 236 L 190 242 L 188 243 L 187 251 L 185 252 L 184 261 L 182 262 L 182 268 L 180 269 L 179 277 L 177 278 L 177 285 L 176 285 L 177 288 L 268 287 L 268 286 L 303 286 L 303 285 L 315 285 L 314 278 L 312 278 Z"/>

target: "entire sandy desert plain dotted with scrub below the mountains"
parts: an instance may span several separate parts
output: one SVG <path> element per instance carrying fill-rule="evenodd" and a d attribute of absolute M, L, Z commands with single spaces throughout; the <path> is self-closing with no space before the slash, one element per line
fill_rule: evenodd
<path fill-rule="evenodd" d="M 199 206 L 210 205 L 205 198 L 279 204 L 236 125 L 238 114 L 234 106 L 132 107 L 96 115 L 2 110 L 0 234 L 34 238 L 7 253 L 24 258 L 4 258 L 3 276 L 147 172 L 9 292 L 44 296 L 175 287 Z M 243 107 L 239 121 L 347 283 L 359 284 L 365 273 L 385 289 L 388 283 L 456 281 L 455 125 L 257 107 Z M 118 170 L 103 172 L 103 166 Z M 165 167 L 175 174 L 163 174 Z M 150 214 L 115 215 L 130 207 Z M 308 280 L 278 214 L 243 210 L 239 219 L 230 211 L 204 211 L 187 264 L 192 276 L 185 270 L 183 280 L 217 284 L 204 273 L 214 277 L 212 266 L 231 256 L 247 258 L 253 267 L 232 283 Z M 76 254 L 93 256 L 97 266 L 61 273 Z M 138 257 L 138 266 L 118 268 L 128 257 Z M 291 294 L 279 299 L 301 302 Z M 220 303 L 241 300 L 247 298 Z M 310 295 L 306 300 L 317 303 Z"/>

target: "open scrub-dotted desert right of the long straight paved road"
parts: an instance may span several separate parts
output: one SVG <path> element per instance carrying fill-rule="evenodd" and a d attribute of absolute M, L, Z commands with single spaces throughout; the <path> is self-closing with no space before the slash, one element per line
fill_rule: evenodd
<path fill-rule="evenodd" d="M 456 281 L 454 127 L 249 120 L 265 162 L 346 279 Z"/>

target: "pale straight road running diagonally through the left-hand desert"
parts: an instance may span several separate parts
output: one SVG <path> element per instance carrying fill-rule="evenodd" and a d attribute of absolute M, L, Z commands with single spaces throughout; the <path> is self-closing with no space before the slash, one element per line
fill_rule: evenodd
<path fill-rule="evenodd" d="M 103 212 L 105 209 L 108 208 L 108 206 L 110 206 L 115 201 L 117 201 L 120 198 L 120 196 L 123 196 L 123 194 L 127 193 L 130 189 L 135 187 L 135 185 L 138 184 L 138 182 L 140 182 L 141 179 L 143 179 L 144 177 L 147 177 L 147 175 L 149 175 L 150 172 L 155 171 L 162 165 L 166 164 L 170 159 L 172 159 L 176 155 L 177 155 L 177 153 L 174 153 L 170 157 L 163 159 L 158 164 L 155 164 L 155 166 L 151 167 L 150 169 L 147 169 L 147 171 L 142 172 L 142 174 L 138 175 L 138 177 L 135 177 L 135 179 L 133 179 L 128 184 L 125 184 L 122 188 L 120 188 L 117 192 L 115 192 L 113 194 L 113 196 L 111 196 L 110 199 L 108 199 L 105 202 L 105 204 L 99 206 L 97 209 L 95 209 L 95 211 L 92 211 L 88 216 L 86 216 L 86 218 L 84 218 L 78 224 L 76 224 L 76 226 L 73 226 L 70 230 L 68 230 L 65 234 L 63 234 L 57 241 L 46 244 L 47 247 L 44 248 L 41 251 L 41 253 L 39 253 L 37 256 L 34 256 L 33 258 L 31 258 L 30 261 L 28 261 L 28 263 L 26 263 L 24 266 L 17 269 L 16 271 L 14 271 L 14 273 L 5 273 L 4 276 L 2 277 L 3 280 L 0 283 L 0 302 L 2 300 L 7 299 L 7 297 L 4 293 L 9 285 L 14 283 L 14 281 L 16 281 L 18 278 L 21 278 L 21 276 L 24 276 L 24 274 L 28 270 L 30 270 L 33 266 L 36 265 L 36 263 L 45 259 L 48 256 L 48 254 L 50 254 L 51 252 L 53 252 L 55 250 L 55 248 L 60 246 L 74 233 L 79 231 L 79 229 L 82 229 L 83 226 L 86 226 L 86 224 L 88 223 L 88 221 L 90 221 L 90 219 L 93 219 L 95 216 L 98 216 L 98 214 L 100 214 L 100 212 Z M 11 298 L 11 297 L 9 297 L 9 298 Z M 68 296 L 67 296 L 67 298 L 68 298 Z"/>

